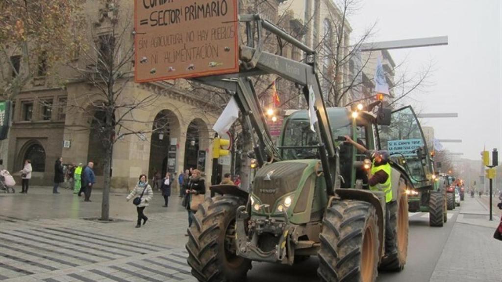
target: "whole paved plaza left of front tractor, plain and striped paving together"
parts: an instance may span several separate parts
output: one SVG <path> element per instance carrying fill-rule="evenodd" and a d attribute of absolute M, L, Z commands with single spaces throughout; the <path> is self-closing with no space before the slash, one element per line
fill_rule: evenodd
<path fill-rule="evenodd" d="M 82 220 L 100 213 L 92 203 L 61 189 L 30 188 L 0 195 L 2 282 L 195 282 L 186 262 L 187 213 L 177 196 L 169 208 L 154 192 L 146 225 L 135 228 L 136 208 L 126 194 L 110 196 L 112 223 Z"/>

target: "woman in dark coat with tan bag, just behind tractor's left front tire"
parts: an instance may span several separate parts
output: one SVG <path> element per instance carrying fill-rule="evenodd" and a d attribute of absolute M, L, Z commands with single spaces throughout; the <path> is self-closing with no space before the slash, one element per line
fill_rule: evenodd
<path fill-rule="evenodd" d="M 205 194 L 205 180 L 199 170 L 193 170 L 185 191 L 185 200 L 183 201 L 188 211 L 188 227 L 192 226 L 193 216 L 197 212 L 198 204 L 204 201 Z M 185 234 L 185 236 L 188 236 L 188 234 Z"/>

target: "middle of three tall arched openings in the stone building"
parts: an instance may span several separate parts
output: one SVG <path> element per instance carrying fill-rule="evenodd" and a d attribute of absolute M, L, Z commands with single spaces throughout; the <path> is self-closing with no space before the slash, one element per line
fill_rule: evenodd
<path fill-rule="evenodd" d="M 150 139 L 149 178 L 159 173 L 161 177 L 166 172 L 176 172 L 178 140 L 180 137 L 180 122 L 174 112 L 168 109 L 160 111 L 153 122 L 153 132 Z"/>

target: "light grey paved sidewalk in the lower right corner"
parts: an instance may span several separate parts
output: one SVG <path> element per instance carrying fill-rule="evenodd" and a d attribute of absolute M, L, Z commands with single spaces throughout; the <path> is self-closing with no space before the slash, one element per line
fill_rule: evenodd
<path fill-rule="evenodd" d="M 430 282 L 502 281 L 502 242 L 493 239 L 499 222 L 500 210 L 489 221 L 488 207 L 466 197 Z"/>

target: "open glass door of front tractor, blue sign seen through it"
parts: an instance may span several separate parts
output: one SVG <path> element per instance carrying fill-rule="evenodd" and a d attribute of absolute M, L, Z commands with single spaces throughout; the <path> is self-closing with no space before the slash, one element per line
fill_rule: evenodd
<path fill-rule="evenodd" d="M 392 112 L 391 125 L 379 126 L 380 148 L 407 171 L 416 188 L 431 185 L 432 167 L 422 127 L 411 106 Z"/>

